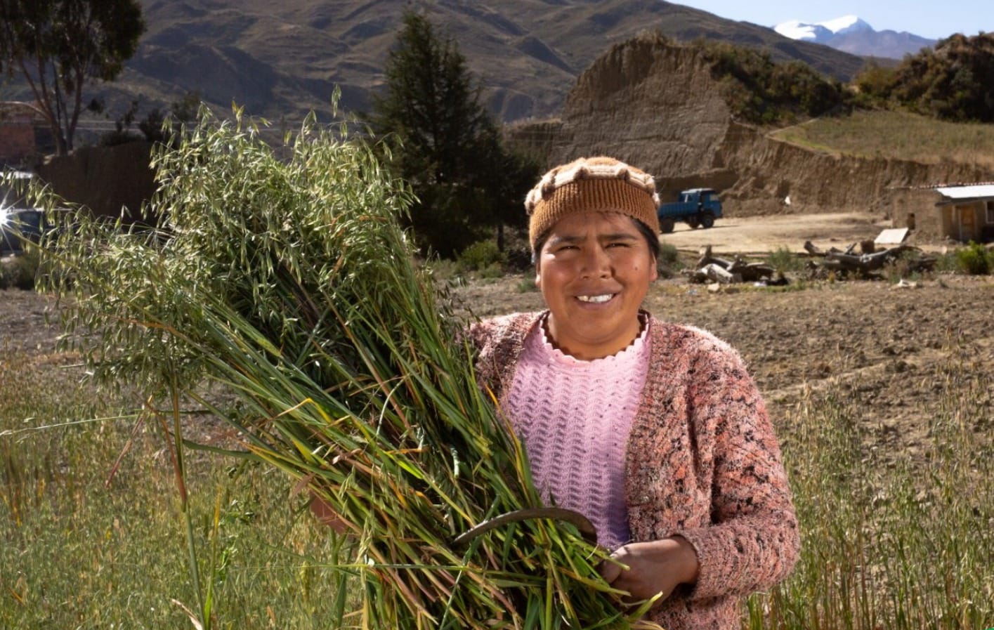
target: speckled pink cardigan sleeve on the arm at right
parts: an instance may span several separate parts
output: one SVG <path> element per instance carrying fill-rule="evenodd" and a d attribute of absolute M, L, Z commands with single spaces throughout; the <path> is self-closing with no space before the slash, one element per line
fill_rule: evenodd
<path fill-rule="evenodd" d="M 799 551 L 779 445 L 765 404 L 739 355 L 724 344 L 693 362 L 689 394 L 699 442 L 712 461 L 712 523 L 678 532 L 694 546 L 700 569 L 692 599 L 745 595 L 772 586 Z"/>

